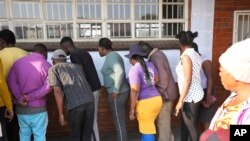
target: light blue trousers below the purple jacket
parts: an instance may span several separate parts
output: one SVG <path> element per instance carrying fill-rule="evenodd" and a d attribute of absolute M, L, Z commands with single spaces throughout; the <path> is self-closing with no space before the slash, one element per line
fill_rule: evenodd
<path fill-rule="evenodd" d="M 46 141 L 46 130 L 48 126 L 48 113 L 38 114 L 17 114 L 20 126 L 20 141 L 30 141 L 31 135 L 34 135 L 34 141 Z"/>

